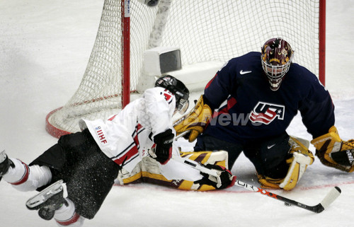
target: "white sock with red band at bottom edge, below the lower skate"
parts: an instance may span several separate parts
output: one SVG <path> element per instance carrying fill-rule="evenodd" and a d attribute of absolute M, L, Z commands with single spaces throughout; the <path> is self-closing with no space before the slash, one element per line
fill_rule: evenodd
<path fill-rule="evenodd" d="M 72 200 L 67 199 L 68 206 L 63 205 L 55 211 L 54 219 L 58 226 L 81 227 L 84 224 L 84 218 L 76 214 L 75 205 Z"/>

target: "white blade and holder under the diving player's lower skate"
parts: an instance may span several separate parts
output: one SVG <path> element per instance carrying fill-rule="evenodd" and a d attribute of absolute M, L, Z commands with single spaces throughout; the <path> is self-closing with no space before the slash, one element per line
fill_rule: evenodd
<path fill-rule="evenodd" d="M 46 187 L 44 190 L 42 190 L 42 192 L 28 199 L 27 202 L 25 203 L 25 206 L 27 206 L 28 209 L 35 209 L 40 204 L 46 202 L 47 199 L 52 197 L 53 194 L 57 194 L 58 192 L 63 190 L 62 184 L 63 181 L 58 180 L 54 184 Z"/>

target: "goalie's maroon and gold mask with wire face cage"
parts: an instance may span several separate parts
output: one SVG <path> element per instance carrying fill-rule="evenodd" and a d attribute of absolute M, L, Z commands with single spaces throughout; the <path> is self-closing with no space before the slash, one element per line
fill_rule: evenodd
<path fill-rule="evenodd" d="M 268 77 L 270 89 L 277 91 L 290 69 L 294 52 L 289 43 L 277 37 L 265 42 L 261 54 L 263 70 Z"/>

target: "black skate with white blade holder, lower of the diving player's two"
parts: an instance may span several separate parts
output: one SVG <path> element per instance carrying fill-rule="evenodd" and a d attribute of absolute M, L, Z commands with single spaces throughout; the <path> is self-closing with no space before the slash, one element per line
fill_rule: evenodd
<path fill-rule="evenodd" d="M 26 206 L 30 210 L 38 210 L 38 215 L 45 220 L 53 218 L 55 211 L 63 204 L 68 206 L 63 197 L 63 181 L 58 180 L 54 184 L 46 187 L 42 192 L 28 199 Z"/>

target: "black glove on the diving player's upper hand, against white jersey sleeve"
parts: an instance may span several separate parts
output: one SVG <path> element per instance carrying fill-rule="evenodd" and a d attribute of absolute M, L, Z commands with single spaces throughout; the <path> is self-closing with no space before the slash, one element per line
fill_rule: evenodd
<path fill-rule="evenodd" d="M 162 165 L 166 164 L 172 157 L 173 138 L 174 134 L 172 133 L 172 129 L 167 129 L 165 132 L 154 136 L 156 157 L 153 158 Z"/>

